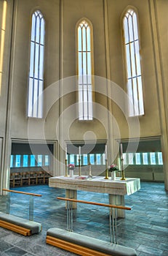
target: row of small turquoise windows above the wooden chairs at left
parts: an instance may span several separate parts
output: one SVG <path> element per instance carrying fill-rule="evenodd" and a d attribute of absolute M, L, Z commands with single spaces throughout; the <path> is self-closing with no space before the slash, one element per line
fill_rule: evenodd
<path fill-rule="evenodd" d="M 49 166 L 49 155 L 16 154 L 10 157 L 10 167 L 40 167 Z"/>

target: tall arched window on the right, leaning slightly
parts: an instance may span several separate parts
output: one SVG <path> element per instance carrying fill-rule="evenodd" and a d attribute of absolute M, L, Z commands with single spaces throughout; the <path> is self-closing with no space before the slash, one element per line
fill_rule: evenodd
<path fill-rule="evenodd" d="M 144 114 L 143 84 L 140 67 L 140 43 L 137 15 L 129 9 L 124 15 L 124 50 L 127 66 L 127 93 L 129 95 L 129 116 Z"/>

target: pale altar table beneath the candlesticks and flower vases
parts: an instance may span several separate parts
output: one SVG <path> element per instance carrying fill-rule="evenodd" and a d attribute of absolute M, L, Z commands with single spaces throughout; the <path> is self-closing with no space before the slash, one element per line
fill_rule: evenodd
<path fill-rule="evenodd" d="M 66 189 L 66 197 L 74 199 L 77 199 L 78 190 L 107 193 L 110 204 L 125 206 L 124 195 L 131 195 L 140 189 L 140 178 L 127 178 L 124 181 L 116 178 L 115 181 L 111 181 L 111 178 L 105 179 L 103 176 L 96 176 L 92 179 L 55 176 L 49 178 L 49 187 Z M 74 204 L 73 207 L 76 208 L 76 205 Z M 124 218 L 124 210 L 118 209 L 117 216 Z"/>

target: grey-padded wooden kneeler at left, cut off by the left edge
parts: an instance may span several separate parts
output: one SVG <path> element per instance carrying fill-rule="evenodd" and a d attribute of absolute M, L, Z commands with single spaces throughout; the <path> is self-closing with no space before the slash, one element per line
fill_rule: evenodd
<path fill-rule="evenodd" d="M 0 211 L 0 227 L 7 228 L 24 236 L 31 236 L 40 233 L 41 224 L 28 219 L 16 217 L 12 214 L 5 214 Z"/>

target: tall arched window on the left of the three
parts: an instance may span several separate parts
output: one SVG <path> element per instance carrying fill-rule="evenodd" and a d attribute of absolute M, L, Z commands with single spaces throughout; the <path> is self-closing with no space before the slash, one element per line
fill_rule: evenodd
<path fill-rule="evenodd" d="M 28 87 L 28 116 L 42 118 L 44 86 L 45 23 L 40 11 L 33 12 L 31 24 L 31 56 Z"/>

